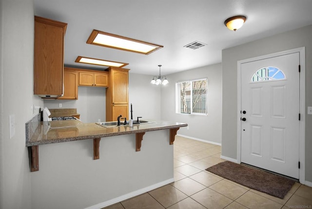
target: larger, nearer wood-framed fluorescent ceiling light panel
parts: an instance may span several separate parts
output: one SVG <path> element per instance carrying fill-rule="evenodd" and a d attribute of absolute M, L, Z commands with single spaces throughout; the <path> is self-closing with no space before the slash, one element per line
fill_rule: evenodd
<path fill-rule="evenodd" d="M 142 54 L 149 54 L 163 48 L 163 46 L 157 44 L 97 30 L 92 31 L 87 43 Z"/>

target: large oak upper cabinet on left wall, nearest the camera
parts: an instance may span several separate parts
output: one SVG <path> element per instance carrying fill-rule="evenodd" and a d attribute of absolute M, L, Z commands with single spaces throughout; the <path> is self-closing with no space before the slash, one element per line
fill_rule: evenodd
<path fill-rule="evenodd" d="M 64 35 L 67 23 L 35 16 L 34 94 L 63 93 Z"/>

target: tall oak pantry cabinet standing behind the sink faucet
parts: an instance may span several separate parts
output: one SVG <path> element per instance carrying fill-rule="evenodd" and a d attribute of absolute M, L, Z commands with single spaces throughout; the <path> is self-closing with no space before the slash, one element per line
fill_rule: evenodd
<path fill-rule="evenodd" d="M 106 88 L 106 121 L 117 117 L 129 119 L 129 69 L 109 68 L 109 85 Z"/>

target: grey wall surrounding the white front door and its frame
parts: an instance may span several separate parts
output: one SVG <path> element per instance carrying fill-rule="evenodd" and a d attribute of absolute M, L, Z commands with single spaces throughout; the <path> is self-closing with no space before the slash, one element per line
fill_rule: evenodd
<path fill-rule="evenodd" d="M 222 51 L 222 156 L 237 158 L 237 61 L 306 47 L 306 106 L 312 106 L 312 25 Z M 312 116 L 306 119 L 306 180 L 312 182 Z"/>

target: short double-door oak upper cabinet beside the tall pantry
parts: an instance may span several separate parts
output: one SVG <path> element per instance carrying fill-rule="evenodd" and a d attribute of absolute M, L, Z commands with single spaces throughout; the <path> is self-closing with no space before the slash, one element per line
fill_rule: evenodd
<path fill-rule="evenodd" d="M 107 87 L 108 74 L 103 72 L 79 72 L 79 86 Z"/>

